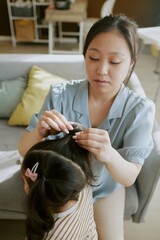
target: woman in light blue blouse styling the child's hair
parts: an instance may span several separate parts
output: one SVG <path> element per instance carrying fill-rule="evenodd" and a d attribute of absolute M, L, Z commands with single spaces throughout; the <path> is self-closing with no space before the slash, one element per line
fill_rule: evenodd
<path fill-rule="evenodd" d="M 118 15 L 97 21 L 84 44 L 87 79 L 51 86 L 19 143 L 24 155 L 36 142 L 68 133 L 69 121 L 88 128 L 74 139 L 95 155 L 93 171 L 99 178 L 93 187 L 94 214 L 100 240 L 124 239 L 125 187 L 135 182 L 153 147 L 154 104 L 124 85 L 137 53 L 133 20 Z"/>

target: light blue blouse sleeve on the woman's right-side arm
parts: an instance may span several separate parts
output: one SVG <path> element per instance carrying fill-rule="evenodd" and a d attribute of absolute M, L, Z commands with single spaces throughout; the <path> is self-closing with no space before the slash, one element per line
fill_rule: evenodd
<path fill-rule="evenodd" d="M 149 99 L 142 99 L 135 107 L 133 120 L 125 131 L 123 147 L 117 150 L 124 159 L 143 164 L 149 156 L 154 146 L 152 140 L 154 116 L 154 103 Z"/>

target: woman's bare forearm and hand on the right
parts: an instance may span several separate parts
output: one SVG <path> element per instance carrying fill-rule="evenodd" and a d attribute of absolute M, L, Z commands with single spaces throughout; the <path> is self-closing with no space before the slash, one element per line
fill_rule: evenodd
<path fill-rule="evenodd" d="M 74 136 L 74 139 L 83 148 L 93 153 L 97 161 L 105 164 L 112 178 L 128 187 L 132 185 L 141 165 L 125 160 L 112 146 L 108 132 L 102 129 L 89 128 Z"/>

